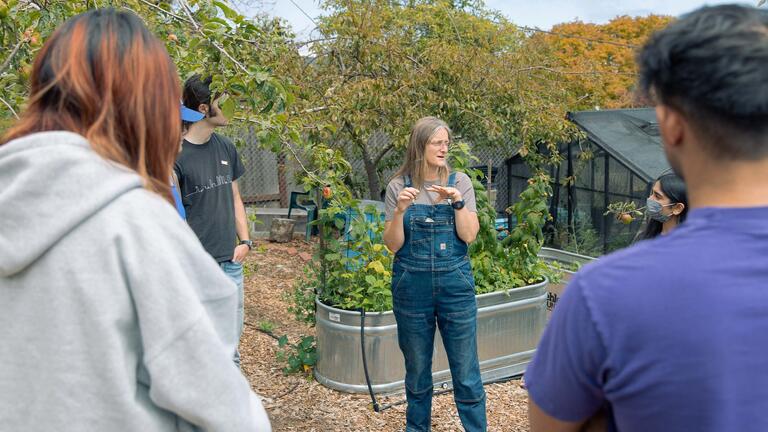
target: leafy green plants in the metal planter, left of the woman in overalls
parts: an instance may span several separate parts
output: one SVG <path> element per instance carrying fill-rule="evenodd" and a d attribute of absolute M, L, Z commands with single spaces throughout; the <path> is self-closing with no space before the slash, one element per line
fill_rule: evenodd
<path fill-rule="evenodd" d="M 352 169 L 340 151 L 316 146 L 309 162 L 302 181 L 320 203 L 320 240 L 294 284 L 291 312 L 313 322 L 315 298 L 342 309 L 390 310 L 392 254 L 382 242 L 379 210 L 353 197 L 346 185 Z"/>

